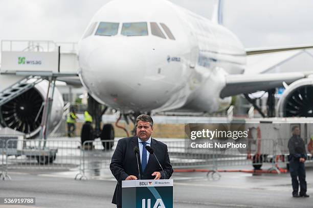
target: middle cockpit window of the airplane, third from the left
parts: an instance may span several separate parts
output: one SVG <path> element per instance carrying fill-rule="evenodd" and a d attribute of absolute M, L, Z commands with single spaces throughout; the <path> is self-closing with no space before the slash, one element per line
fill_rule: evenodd
<path fill-rule="evenodd" d="M 148 35 L 147 22 L 123 23 L 122 35 L 126 36 Z"/>

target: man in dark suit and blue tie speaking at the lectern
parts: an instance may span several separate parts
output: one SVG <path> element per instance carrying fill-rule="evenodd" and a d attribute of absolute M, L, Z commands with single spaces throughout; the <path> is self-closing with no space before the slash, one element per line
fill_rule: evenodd
<path fill-rule="evenodd" d="M 142 114 L 136 119 L 136 136 L 121 138 L 111 159 L 110 170 L 117 180 L 112 203 L 122 207 L 122 180 L 139 179 L 138 165 L 134 148 L 138 147 L 139 169 L 141 179 L 169 179 L 173 173 L 167 146 L 151 138 L 153 120 L 149 115 Z M 154 155 L 147 152 L 150 146 L 158 157 L 164 171 Z"/>

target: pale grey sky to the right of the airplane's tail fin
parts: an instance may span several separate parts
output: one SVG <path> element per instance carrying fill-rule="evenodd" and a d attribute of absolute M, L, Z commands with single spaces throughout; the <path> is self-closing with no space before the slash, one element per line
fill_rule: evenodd
<path fill-rule="evenodd" d="M 225 26 L 245 47 L 312 44 L 313 1 L 225 1 Z"/>

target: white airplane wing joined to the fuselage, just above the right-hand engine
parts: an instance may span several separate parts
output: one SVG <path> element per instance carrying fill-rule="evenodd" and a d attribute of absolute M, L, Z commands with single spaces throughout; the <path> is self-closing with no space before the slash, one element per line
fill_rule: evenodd
<path fill-rule="evenodd" d="M 254 93 L 259 90 L 268 90 L 292 83 L 305 78 L 305 73 L 268 73 L 248 75 L 227 75 L 226 86 L 221 90 L 220 97 L 225 98 L 238 94 Z"/>

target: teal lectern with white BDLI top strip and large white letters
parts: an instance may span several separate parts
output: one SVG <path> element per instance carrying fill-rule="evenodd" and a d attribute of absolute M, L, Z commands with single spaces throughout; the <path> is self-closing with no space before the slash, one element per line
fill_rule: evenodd
<path fill-rule="evenodd" d="M 122 208 L 173 208 L 173 180 L 123 180 Z"/>

